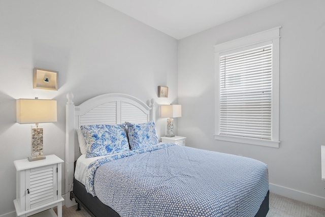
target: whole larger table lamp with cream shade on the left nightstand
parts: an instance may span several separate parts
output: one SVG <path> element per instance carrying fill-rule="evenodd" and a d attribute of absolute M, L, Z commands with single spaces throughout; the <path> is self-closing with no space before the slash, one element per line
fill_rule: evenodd
<path fill-rule="evenodd" d="M 43 127 L 39 123 L 56 122 L 56 100 L 16 100 L 17 123 L 36 123 L 31 127 L 31 156 L 28 161 L 45 159 L 43 155 Z"/>

